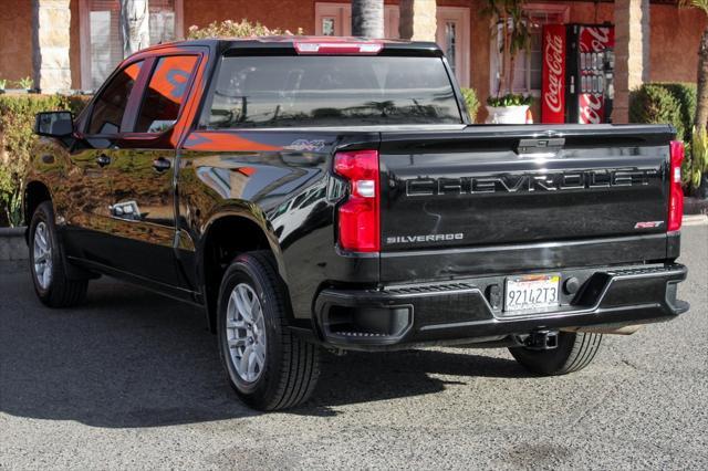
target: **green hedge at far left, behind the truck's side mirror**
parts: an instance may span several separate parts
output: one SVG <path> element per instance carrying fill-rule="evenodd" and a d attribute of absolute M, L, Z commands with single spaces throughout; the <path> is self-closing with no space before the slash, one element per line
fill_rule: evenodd
<path fill-rule="evenodd" d="M 88 100 L 83 95 L 0 95 L 0 227 L 21 223 L 20 188 L 37 139 L 34 115 L 58 109 L 79 114 Z"/>

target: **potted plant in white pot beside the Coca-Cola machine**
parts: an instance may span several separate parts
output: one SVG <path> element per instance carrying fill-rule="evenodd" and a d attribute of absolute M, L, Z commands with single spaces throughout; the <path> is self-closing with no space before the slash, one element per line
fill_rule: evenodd
<path fill-rule="evenodd" d="M 501 69 L 497 95 L 487 100 L 488 123 L 525 124 L 531 97 L 513 93 L 517 55 L 530 42 L 529 18 L 523 9 L 525 0 L 488 0 L 486 12 L 497 21 L 493 28 L 499 39 Z"/>

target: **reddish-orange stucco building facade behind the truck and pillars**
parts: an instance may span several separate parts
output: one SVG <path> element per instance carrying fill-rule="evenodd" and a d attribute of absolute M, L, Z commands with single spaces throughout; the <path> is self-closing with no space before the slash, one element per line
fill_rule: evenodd
<path fill-rule="evenodd" d="M 621 1 L 631 4 L 646 0 L 617 0 Z M 71 87 L 95 88 L 122 59 L 119 0 L 0 0 L 0 78 L 13 81 L 33 75 L 33 49 L 38 40 L 32 15 L 38 14 L 38 2 L 49 4 L 48 8 L 56 3 L 56 11 L 65 11 L 56 13 L 58 21 L 50 17 L 45 23 L 59 30 L 69 28 L 69 64 L 64 65 L 71 74 Z M 399 2 L 385 0 L 388 38 L 399 36 Z M 475 88 L 485 100 L 496 93 L 500 67 L 497 27 L 485 13 L 487 0 L 437 0 L 436 3 L 437 43 L 446 51 L 460 84 Z M 525 9 L 533 28 L 528 51 L 517 60 L 513 87 L 514 92 L 537 96 L 541 92 L 543 24 L 615 23 L 617 15 L 622 15 L 615 2 L 601 0 L 528 1 Z M 628 67 L 625 74 L 631 75 L 636 72 L 633 67 L 641 66 L 643 80 L 695 82 L 705 14 L 679 9 L 675 0 L 652 1 L 648 10 L 648 38 L 644 39 L 647 56 L 639 65 L 622 64 Z M 42 13 L 41 18 L 44 18 Z M 291 31 L 301 28 L 305 34 L 351 33 L 351 2 L 346 0 L 149 0 L 150 41 L 181 38 L 190 25 L 242 18 L 270 28 Z M 629 13 L 626 21 L 626 30 L 633 31 L 629 22 L 634 20 Z M 41 21 L 40 28 L 44 28 Z M 40 34 L 39 42 L 51 42 L 55 34 L 61 31 Z"/>

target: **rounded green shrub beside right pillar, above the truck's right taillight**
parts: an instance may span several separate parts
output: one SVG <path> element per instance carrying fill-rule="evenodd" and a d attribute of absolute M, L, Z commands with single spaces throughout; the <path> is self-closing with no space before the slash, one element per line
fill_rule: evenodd
<path fill-rule="evenodd" d="M 629 122 L 670 124 L 677 138 L 686 140 L 680 104 L 662 85 L 644 84 L 629 94 Z"/>

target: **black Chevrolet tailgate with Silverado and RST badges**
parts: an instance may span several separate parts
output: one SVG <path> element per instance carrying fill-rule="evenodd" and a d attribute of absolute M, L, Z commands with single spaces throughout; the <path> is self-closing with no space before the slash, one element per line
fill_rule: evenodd
<path fill-rule="evenodd" d="M 664 258 L 673 138 L 669 126 L 646 125 L 383 133 L 382 279 L 398 278 L 391 265 L 397 254 L 433 249 L 442 255 L 565 242 L 611 253 L 598 242 L 638 237 L 650 242 L 612 254 L 617 263 Z M 591 252 L 584 255 L 592 264 Z M 538 268 L 565 263 L 543 260 L 542 251 L 532 259 Z M 483 271 L 458 266 L 450 275 L 475 270 Z"/>

